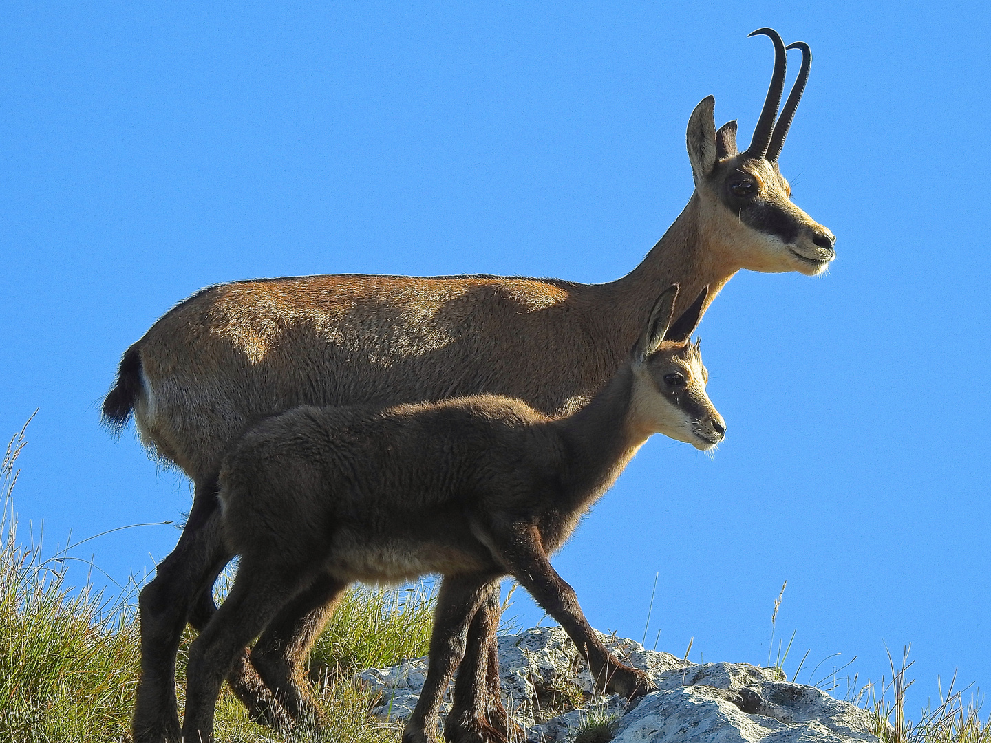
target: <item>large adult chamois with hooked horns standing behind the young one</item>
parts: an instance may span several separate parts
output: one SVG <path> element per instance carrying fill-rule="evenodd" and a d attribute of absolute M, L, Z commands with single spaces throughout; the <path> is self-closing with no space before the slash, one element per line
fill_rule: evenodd
<path fill-rule="evenodd" d="M 187 619 L 202 629 L 215 610 L 210 589 L 190 576 L 216 548 L 215 535 L 203 528 L 217 506 L 214 474 L 250 421 L 301 404 L 391 404 L 482 392 L 563 415 L 622 364 L 658 287 L 680 283 L 684 298 L 708 285 L 708 303 L 740 268 L 825 270 L 835 256 L 833 236 L 791 202 L 777 161 L 808 79 L 809 49 L 801 45 L 802 68 L 775 124 L 786 48 L 770 29 L 754 33 L 771 38 L 775 66 L 749 147 L 737 151 L 735 122 L 716 132 L 712 96 L 696 107 L 687 133 L 695 192 L 622 278 L 603 284 L 498 276 L 238 281 L 189 297 L 128 349 L 103 418 L 119 428 L 133 412 L 142 440 L 195 484 L 182 536 L 141 593 L 136 743 L 179 734 L 179 637 Z M 304 657 L 326 620 L 331 588 L 317 582 L 286 606 L 252 658 L 280 656 L 291 664 Z M 496 620 L 494 595 L 472 626 L 490 656 L 466 659 L 488 668 L 494 683 Z M 257 718 L 289 721 L 247 653 L 229 681 Z M 501 715 L 498 702 L 492 704 L 490 714 Z"/>

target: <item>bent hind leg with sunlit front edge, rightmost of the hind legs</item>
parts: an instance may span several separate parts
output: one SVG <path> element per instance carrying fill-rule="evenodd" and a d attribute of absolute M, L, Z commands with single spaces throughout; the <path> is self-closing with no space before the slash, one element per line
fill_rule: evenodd
<path fill-rule="evenodd" d="M 262 680 L 296 722 L 320 725 L 321 713 L 304 678 L 304 663 L 347 586 L 319 576 L 278 612 L 251 651 L 251 662 Z"/>

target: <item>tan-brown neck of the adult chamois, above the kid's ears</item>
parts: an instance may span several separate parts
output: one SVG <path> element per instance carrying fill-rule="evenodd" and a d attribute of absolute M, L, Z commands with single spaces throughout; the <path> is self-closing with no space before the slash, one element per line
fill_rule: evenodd
<path fill-rule="evenodd" d="M 741 267 L 713 230 L 706 229 L 704 212 L 702 199 L 693 193 L 688 205 L 640 265 L 622 278 L 600 284 L 601 301 L 610 307 L 600 317 L 609 326 L 600 337 L 606 339 L 615 358 L 625 358 L 629 353 L 664 287 L 673 283 L 681 287 L 674 309 L 678 317 L 702 288 L 709 286 L 705 312 L 719 289 Z"/>

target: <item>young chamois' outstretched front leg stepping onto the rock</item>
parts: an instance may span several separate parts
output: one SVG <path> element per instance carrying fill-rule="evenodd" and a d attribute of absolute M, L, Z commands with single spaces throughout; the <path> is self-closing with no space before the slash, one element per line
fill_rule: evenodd
<path fill-rule="evenodd" d="M 575 590 L 551 566 L 536 526 L 511 524 L 493 535 L 491 548 L 519 584 L 568 633 L 588 661 L 598 690 L 628 699 L 657 690 L 646 674 L 620 663 L 609 653 L 585 618 Z"/>

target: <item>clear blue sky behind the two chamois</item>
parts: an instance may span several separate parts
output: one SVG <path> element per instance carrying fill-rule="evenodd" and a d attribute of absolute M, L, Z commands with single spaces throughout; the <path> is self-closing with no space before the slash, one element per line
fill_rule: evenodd
<path fill-rule="evenodd" d="M 181 518 L 187 483 L 98 406 L 201 286 L 631 269 L 691 195 L 696 103 L 748 141 L 772 53 L 746 34 L 772 26 L 815 53 L 781 164 L 838 259 L 726 286 L 701 335 L 727 440 L 653 440 L 556 565 L 636 638 L 659 572 L 648 645 L 694 660 L 766 661 L 788 580 L 790 669 L 876 678 L 911 642 L 916 706 L 955 668 L 991 690 L 986 4 L 417 6 L 4 5 L 0 433 L 41 408 L 22 528 Z M 122 582 L 176 538 L 75 555 Z"/>

